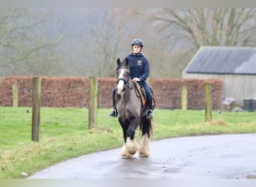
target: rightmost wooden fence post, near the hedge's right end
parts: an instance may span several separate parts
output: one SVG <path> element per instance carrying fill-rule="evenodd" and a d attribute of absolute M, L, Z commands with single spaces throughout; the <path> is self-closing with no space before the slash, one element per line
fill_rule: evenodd
<path fill-rule="evenodd" d="M 212 120 L 212 83 L 206 82 L 204 84 L 205 88 L 205 122 Z"/>

